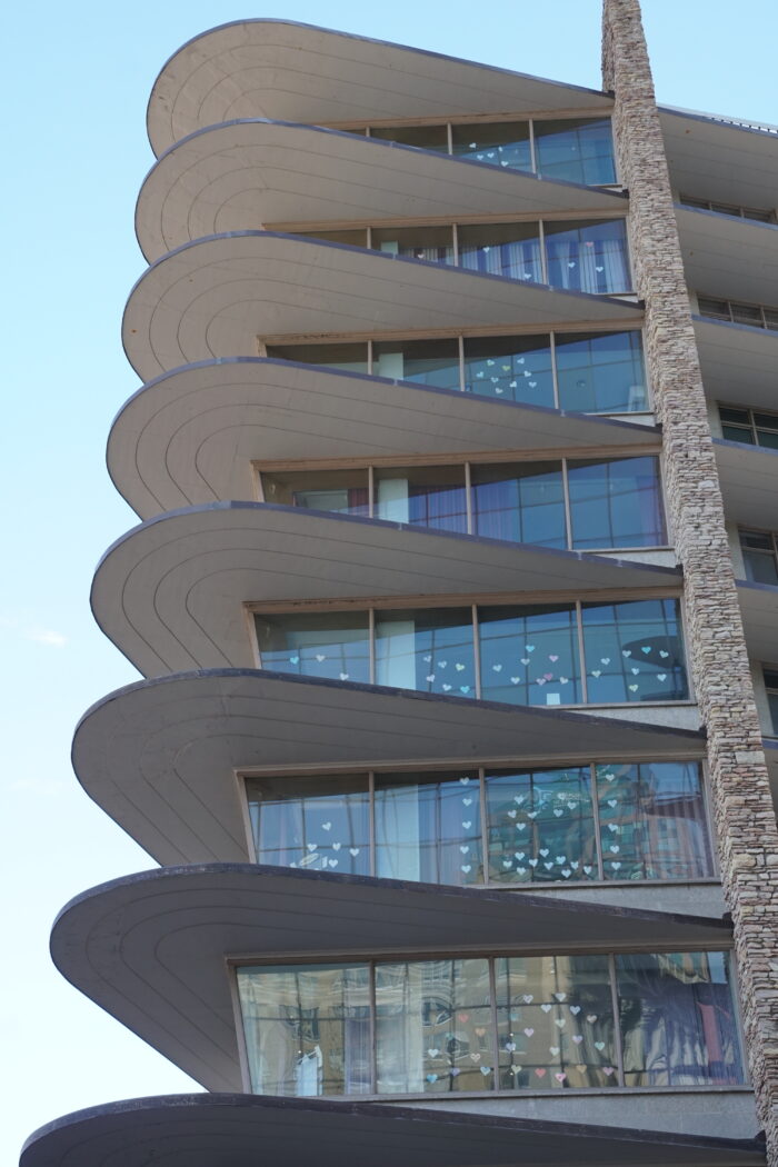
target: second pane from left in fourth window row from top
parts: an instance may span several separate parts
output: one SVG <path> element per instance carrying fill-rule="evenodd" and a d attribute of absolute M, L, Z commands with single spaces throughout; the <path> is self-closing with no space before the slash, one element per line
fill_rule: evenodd
<path fill-rule="evenodd" d="M 463 466 L 376 469 L 373 478 L 376 518 L 467 533 Z"/>

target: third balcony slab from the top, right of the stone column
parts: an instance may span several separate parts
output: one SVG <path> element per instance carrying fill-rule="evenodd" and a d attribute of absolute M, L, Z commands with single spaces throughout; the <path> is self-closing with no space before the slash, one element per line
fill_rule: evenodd
<path fill-rule="evenodd" d="M 778 333 L 705 316 L 693 321 L 708 400 L 775 410 Z"/>

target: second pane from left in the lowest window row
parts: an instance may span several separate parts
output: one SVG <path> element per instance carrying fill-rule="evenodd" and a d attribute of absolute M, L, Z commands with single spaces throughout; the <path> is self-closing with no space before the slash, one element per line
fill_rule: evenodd
<path fill-rule="evenodd" d="M 379 1093 L 495 1088 L 488 960 L 376 966 Z"/>

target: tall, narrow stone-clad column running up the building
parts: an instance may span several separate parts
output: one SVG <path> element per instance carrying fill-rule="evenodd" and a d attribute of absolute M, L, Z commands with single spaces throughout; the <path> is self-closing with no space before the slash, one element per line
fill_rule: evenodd
<path fill-rule="evenodd" d="M 769 1162 L 778 1165 L 778 831 L 638 0 L 603 0 L 603 83 L 615 93 L 616 154 L 630 194 L 635 286 L 645 301 L 646 362 L 664 427 L 667 505 L 708 732 L 745 1043 Z"/>

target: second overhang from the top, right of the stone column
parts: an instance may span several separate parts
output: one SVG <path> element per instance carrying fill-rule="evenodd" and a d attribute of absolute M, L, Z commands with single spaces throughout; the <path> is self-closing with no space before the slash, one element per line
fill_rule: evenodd
<path fill-rule="evenodd" d="M 775 303 L 778 226 L 679 205 L 675 218 L 689 287 L 722 300 Z"/>

